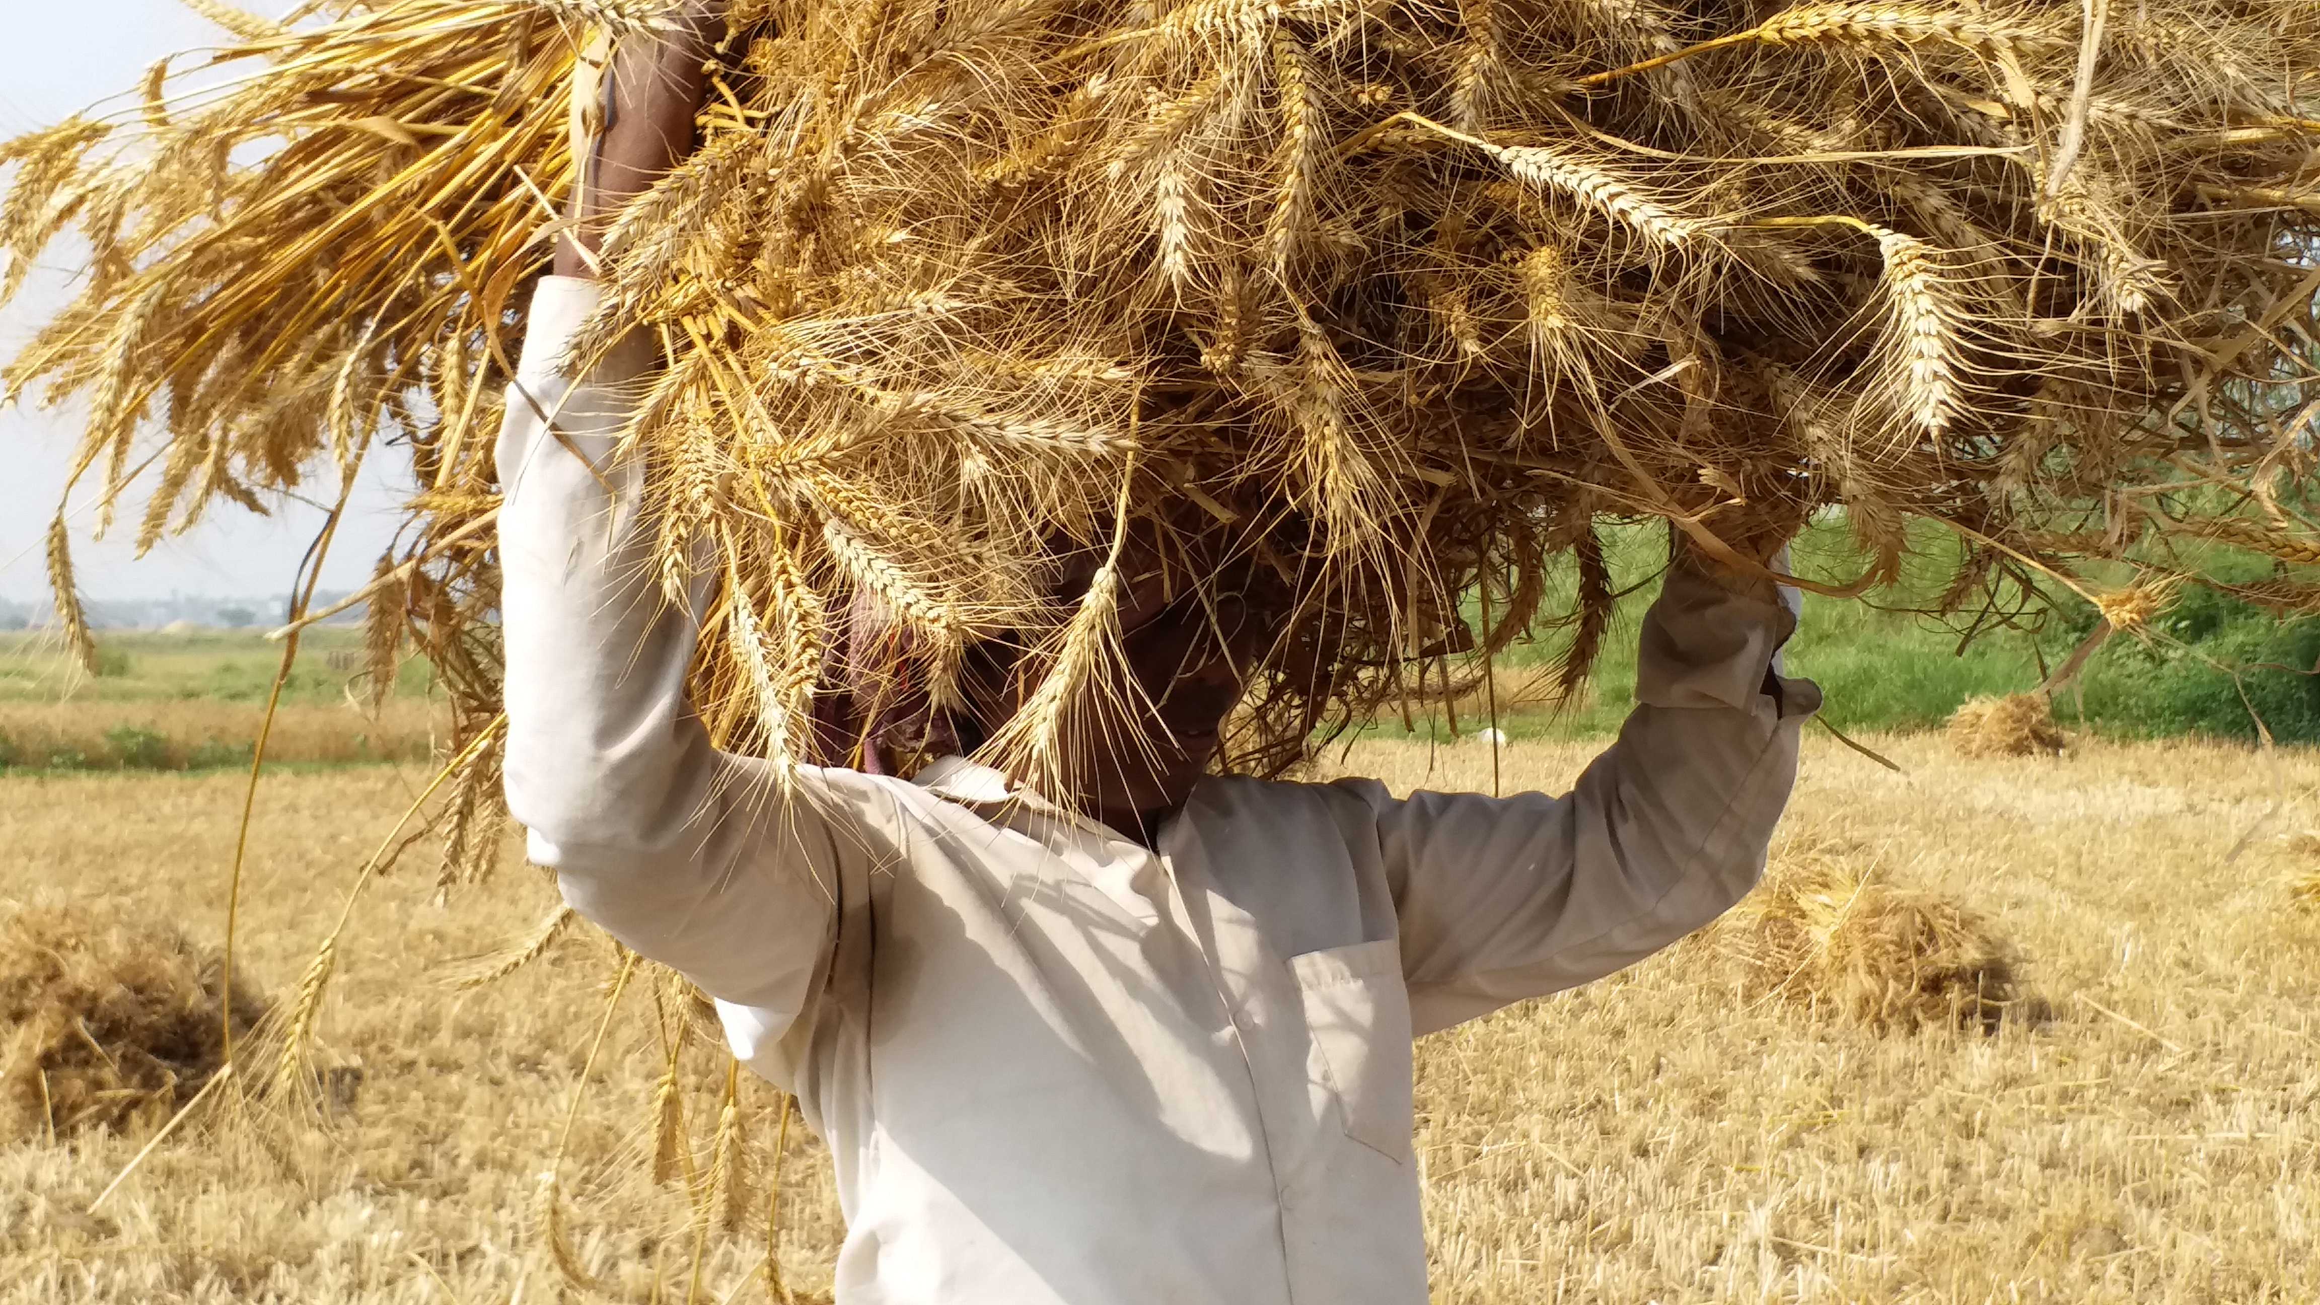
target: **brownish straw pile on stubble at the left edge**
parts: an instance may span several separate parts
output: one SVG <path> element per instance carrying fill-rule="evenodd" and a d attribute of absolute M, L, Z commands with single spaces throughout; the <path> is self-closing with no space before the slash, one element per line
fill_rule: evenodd
<path fill-rule="evenodd" d="M 158 1126 L 262 1003 L 174 929 L 84 908 L 0 917 L 0 1142 Z"/>

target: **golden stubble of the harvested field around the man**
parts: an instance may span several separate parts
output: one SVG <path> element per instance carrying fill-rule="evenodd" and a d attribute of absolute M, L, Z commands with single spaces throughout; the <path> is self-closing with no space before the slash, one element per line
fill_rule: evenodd
<path fill-rule="evenodd" d="M 1907 773 L 1814 736 L 1789 836 L 1981 915 L 2051 1017 L 1877 1033 L 1689 943 L 1436 1036 L 1418 1084 L 1436 1300 L 2320 1298 L 2320 915 L 2285 887 L 2313 868 L 2297 836 L 2320 824 L 2320 757 L 2074 741 L 1967 764 L 1942 736 L 1868 743 Z M 1596 748 L 1499 762 L 1508 785 L 1564 787 Z M 1348 769 L 1492 785 L 1473 743 L 1364 743 Z M 258 989 L 297 982 L 422 783 L 369 766 L 262 792 L 237 961 Z M 237 794 L 232 776 L 0 780 L 0 899 L 104 896 L 213 940 Z M 0 1303 L 578 1300 L 531 1212 L 603 947 L 455 994 L 434 975 L 517 936 L 548 887 L 510 864 L 476 889 L 490 901 L 443 910 L 415 864 L 380 889 L 320 1024 L 332 1133 L 276 1159 L 237 1133 L 165 1142 L 93 1217 L 135 1135 L 0 1149 Z M 640 1019 L 612 1050 L 652 1036 Z M 645 1177 L 650 1061 L 610 1059 L 564 1166 L 573 1254 L 626 1300 L 691 1259 L 682 1196 Z M 745 1105 L 770 1135 L 770 1101 Z M 696 1159 L 712 1126 L 689 1119 Z M 786 1163 L 780 1263 L 814 1300 L 838 1214 L 819 1149 L 793 1140 Z M 761 1300 L 759 1245 L 712 1252 L 703 1298 Z"/>

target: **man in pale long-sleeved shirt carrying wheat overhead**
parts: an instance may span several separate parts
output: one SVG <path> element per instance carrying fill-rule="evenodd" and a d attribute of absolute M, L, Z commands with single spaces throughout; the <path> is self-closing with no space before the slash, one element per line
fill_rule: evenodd
<path fill-rule="evenodd" d="M 582 216 L 691 149 L 701 58 L 622 51 Z M 1165 736 L 1081 738 L 1081 792 L 956 755 L 777 790 L 689 713 L 696 613 L 659 601 L 643 467 L 610 457 L 650 346 L 557 376 L 587 267 L 566 244 L 541 283 L 499 437 L 508 806 L 580 913 L 798 1094 L 838 1166 L 838 1300 L 1424 1300 L 1411 1040 L 1756 882 L 1819 701 L 1775 671 L 1772 583 L 1675 548 L 1636 713 L 1568 796 L 1204 776 L 1264 622 L 1167 592 L 1123 611 Z"/>

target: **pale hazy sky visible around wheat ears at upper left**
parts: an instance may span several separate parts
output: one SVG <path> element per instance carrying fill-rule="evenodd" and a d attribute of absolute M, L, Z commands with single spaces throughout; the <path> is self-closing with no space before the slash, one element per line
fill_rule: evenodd
<path fill-rule="evenodd" d="M 244 9 L 281 14 L 283 0 L 241 0 Z M 132 91 L 160 56 L 218 42 L 218 30 L 176 0 L 7 0 L 7 39 L 0 39 L 0 137 L 53 123 L 95 100 Z M 74 269 L 49 265 L 7 311 L 0 311 L 0 355 L 14 355 L 30 330 L 56 309 Z M 42 539 L 65 485 L 77 413 L 0 413 L 0 599 L 44 601 Z M 376 460 L 374 460 L 376 464 Z M 362 488 L 350 522 L 341 527 L 325 587 L 353 587 L 369 578 L 378 550 L 392 534 L 397 495 L 394 467 L 376 469 Z M 74 506 L 86 504 L 74 492 Z M 88 513 L 74 518 L 74 562 L 81 590 L 95 599 L 158 597 L 172 590 L 200 594 L 274 594 L 290 587 L 292 571 L 320 513 L 283 504 L 262 520 L 218 504 L 195 534 L 165 541 L 144 560 L 130 557 L 142 497 L 132 497 L 123 522 L 102 543 L 88 541 Z"/>

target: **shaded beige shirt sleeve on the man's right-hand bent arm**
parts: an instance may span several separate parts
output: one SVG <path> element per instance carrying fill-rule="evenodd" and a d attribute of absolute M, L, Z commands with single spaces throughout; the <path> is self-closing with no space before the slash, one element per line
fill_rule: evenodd
<path fill-rule="evenodd" d="M 1777 673 L 1793 629 L 1793 592 L 1675 564 L 1643 622 L 1638 706 L 1571 794 L 1364 785 L 1418 1033 L 1619 971 L 1756 885 L 1821 701 Z"/>

